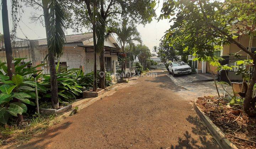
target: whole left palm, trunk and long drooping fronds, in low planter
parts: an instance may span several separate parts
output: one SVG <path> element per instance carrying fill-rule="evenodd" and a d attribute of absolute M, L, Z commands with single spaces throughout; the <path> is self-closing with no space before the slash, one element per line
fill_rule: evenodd
<path fill-rule="evenodd" d="M 63 53 L 63 45 L 65 43 L 65 13 L 62 9 L 62 1 L 60 0 L 42 0 L 42 6 L 50 65 L 52 106 L 54 109 L 58 109 L 59 98 L 55 58 L 60 57 Z"/>

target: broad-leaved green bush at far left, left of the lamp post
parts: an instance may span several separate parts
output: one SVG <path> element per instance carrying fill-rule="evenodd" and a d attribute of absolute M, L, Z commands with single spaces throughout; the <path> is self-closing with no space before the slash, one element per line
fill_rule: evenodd
<path fill-rule="evenodd" d="M 34 107 L 34 99 L 36 94 L 34 92 L 37 83 L 33 82 L 34 78 L 32 74 L 41 72 L 42 70 L 36 70 L 37 67 L 25 68 L 30 62 L 21 64 L 21 61 L 26 58 L 14 59 L 15 73 L 12 79 L 7 75 L 7 66 L 5 62 L 0 64 L 0 122 L 5 124 L 11 116 L 17 117 L 17 114 L 23 114 L 28 111 L 27 105 Z M 3 72 L 2 72 L 3 71 Z M 6 75 L 4 75 L 6 73 Z M 38 76 L 39 77 L 39 76 Z M 41 88 L 38 87 L 38 90 Z M 20 102 L 15 101 L 16 99 Z"/>

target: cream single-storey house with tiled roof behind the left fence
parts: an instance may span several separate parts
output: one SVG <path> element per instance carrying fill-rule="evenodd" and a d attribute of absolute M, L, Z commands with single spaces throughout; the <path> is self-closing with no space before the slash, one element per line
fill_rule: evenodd
<path fill-rule="evenodd" d="M 66 42 L 63 49 L 63 55 L 59 58 L 60 67 L 68 66 L 70 68 L 82 68 L 85 73 L 93 71 L 94 50 L 92 33 L 82 33 L 66 35 Z M 45 57 L 48 53 L 47 39 L 38 40 L 20 40 L 12 43 L 13 57 L 27 57 L 25 62 L 32 61 L 31 65 L 47 63 Z M 112 34 L 105 39 L 105 68 L 107 72 L 113 75 L 117 56 L 121 53 L 121 48 Z M 0 49 L 0 60 L 6 61 L 5 50 Z M 56 61 L 56 63 L 58 60 Z M 49 73 L 49 66 L 42 67 L 44 73 Z M 99 55 L 97 56 L 97 69 L 100 69 Z"/>

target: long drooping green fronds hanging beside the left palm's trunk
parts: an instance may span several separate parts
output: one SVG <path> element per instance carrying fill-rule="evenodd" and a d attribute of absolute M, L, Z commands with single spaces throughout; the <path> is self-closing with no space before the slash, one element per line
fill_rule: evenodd
<path fill-rule="evenodd" d="M 49 39 L 47 41 L 48 50 L 53 52 L 55 57 L 63 54 L 63 45 L 65 43 L 65 13 L 61 1 L 52 0 L 49 13 Z"/>

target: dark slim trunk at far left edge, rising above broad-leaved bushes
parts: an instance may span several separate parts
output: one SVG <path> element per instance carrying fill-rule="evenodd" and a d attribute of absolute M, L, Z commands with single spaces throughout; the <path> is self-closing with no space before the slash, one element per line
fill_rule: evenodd
<path fill-rule="evenodd" d="M 15 73 L 14 64 L 12 64 L 12 49 L 11 49 L 11 37 L 10 37 L 10 28 L 9 28 L 9 20 L 8 20 L 8 9 L 7 9 L 7 1 L 2 0 L 2 27 L 4 33 L 4 44 L 5 44 L 5 54 L 7 60 L 7 75 L 10 80 L 12 79 L 12 73 Z M 15 102 L 20 102 L 20 100 L 14 98 Z M 17 114 L 18 123 L 23 121 L 23 116 Z"/>

